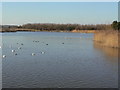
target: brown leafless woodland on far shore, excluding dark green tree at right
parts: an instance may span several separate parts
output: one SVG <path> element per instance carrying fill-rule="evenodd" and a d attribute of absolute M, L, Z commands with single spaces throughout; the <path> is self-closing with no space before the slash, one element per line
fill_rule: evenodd
<path fill-rule="evenodd" d="M 36 30 L 108 30 L 112 29 L 111 25 L 97 24 L 97 25 L 80 25 L 80 24 L 24 24 L 18 28 L 36 29 Z"/>

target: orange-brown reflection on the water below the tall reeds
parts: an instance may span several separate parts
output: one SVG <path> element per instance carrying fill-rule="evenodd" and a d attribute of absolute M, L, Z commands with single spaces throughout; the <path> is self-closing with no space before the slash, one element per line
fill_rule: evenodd
<path fill-rule="evenodd" d="M 94 48 L 99 51 L 102 51 L 108 57 L 118 57 L 118 56 L 120 57 L 120 55 L 118 55 L 118 51 L 120 49 L 118 49 L 118 48 L 104 47 L 104 46 L 102 46 L 101 43 L 98 43 L 98 42 L 94 42 Z"/>

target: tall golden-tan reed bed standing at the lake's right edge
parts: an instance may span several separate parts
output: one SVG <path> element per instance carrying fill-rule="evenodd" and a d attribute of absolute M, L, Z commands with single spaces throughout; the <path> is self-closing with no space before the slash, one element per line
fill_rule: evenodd
<path fill-rule="evenodd" d="M 94 41 L 100 46 L 120 48 L 120 32 L 117 30 L 99 30 L 94 34 Z"/>

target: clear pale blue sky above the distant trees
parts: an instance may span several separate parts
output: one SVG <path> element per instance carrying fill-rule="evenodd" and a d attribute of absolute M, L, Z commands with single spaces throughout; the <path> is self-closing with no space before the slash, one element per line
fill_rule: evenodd
<path fill-rule="evenodd" d="M 110 24 L 118 19 L 117 2 L 3 2 L 2 24 Z"/>

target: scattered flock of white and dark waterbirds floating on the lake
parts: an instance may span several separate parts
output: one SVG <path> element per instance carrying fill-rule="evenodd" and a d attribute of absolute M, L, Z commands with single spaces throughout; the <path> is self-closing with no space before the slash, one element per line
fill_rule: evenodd
<path fill-rule="evenodd" d="M 33 42 L 38 43 L 39 41 L 35 41 L 35 40 L 34 40 Z M 19 43 L 17 43 L 17 44 L 19 44 Z M 62 43 L 62 44 L 64 44 L 64 43 Z M 21 43 L 21 46 L 23 46 L 23 45 L 24 45 L 24 44 Z M 48 45 L 48 44 L 46 44 L 46 45 Z M 12 46 L 10 46 L 10 48 L 12 48 Z M 0 49 L 2 49 L 2 46 L 0 46 Z M 22 47 L 18 47 L 17 49 L 20 50 L 20 49 L 22 49 Z M 11 52 L 14 53 L 14 55 L 18 55 L 15 49 L 12 49 Z M 45 52 L 42 51 L 41 54 L 45 54 Z M 33 53 L 33 52 L 32 52 L 31 55 L 32 55 L 32 56 L 35 56 L 36 53 Z M 2 55 L 2 58 L 6 58 L 6 55 Z"/>

